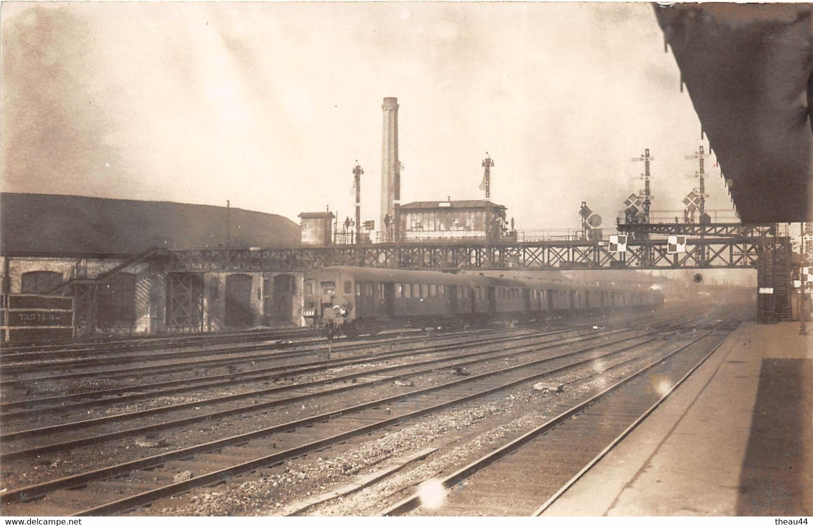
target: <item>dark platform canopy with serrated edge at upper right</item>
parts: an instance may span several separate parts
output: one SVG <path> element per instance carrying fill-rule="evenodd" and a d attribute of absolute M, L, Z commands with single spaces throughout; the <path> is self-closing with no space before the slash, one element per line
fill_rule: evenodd
<path fill-rule="evenodd" d="M 654 10 L 741 220 L 813 219 L 813 6 Z"/>

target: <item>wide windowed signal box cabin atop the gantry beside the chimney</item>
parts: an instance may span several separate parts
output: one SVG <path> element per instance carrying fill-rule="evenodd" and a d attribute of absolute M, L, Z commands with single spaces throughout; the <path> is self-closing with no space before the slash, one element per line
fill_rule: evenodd
<path fill-rule="evenodd" d="M 487 200 L 416 201 L 400 208 L 403 242 L 499 241 L 506 207 Z"/>

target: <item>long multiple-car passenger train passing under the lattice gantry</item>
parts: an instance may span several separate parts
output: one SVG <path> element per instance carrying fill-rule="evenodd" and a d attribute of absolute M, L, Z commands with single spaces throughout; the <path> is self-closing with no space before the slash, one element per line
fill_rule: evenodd
<path fill-rule="evenodd" d="M 651 289 L 524 281 L 367 267 L 325 267 L 304 278 L 306 325 L 328 338 L 411 326 L 485 326 L 500 320 L 546 320 L 585 312 L 651 309 L 663 294 Z"/>

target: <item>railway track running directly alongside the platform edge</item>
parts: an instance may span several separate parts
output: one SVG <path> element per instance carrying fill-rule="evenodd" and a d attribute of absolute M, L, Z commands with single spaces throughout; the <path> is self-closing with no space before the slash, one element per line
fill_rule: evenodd
<path fill-rule="evenodd" d="M 700 367 L 737 325 L 720 324 L 450 475 L 424 481 L 420 492 L 381 515 L 541 515 Z M 432 506 L 424 506 L 422 498 Z"/>

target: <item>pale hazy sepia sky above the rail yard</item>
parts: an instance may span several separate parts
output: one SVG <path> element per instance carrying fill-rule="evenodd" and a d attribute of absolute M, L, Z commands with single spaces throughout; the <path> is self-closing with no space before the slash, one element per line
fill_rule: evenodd
<path fill-rule="evenodd" d="M 402 202 L 483 198 L 520 230 L 680 210 L 701 128 L 648 3 L 3 2 L 0 189 L 378 220 L 381 102 Z M 708 149 L 707 143 L 705 144 Z M 720 172 L 706 208 L 733 206 Z M 667 214 L 669 215 L 669 214 Z M 671 214 L 674 215 L 674 214 Z"/>

